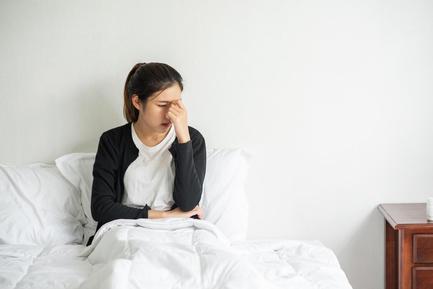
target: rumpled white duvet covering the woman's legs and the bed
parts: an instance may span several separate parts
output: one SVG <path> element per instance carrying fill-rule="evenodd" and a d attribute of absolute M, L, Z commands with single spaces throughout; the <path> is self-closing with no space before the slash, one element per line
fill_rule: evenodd
<path fill-rule="evenodd" d="M 115 220 L 92 245 L 0 245 L 0 288 L 352 289 L 319 241 L 247 240 L 230 246 L 192 218 Z"/>

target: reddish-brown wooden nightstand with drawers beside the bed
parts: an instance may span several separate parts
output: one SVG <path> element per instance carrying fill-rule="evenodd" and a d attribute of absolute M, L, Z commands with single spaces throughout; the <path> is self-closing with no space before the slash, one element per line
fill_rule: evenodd
<path fill-rule="evenodd" d="M 378 205 L 385 217 L 385 289 L 433 288 L 433 221 L 426 205 Z"/>

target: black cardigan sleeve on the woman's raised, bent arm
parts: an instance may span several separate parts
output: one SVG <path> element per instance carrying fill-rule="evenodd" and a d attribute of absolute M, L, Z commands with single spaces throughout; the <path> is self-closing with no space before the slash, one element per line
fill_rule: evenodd
<path fill-rule="evenodd" d="M 206 173 L 206 143 L 201 134 L 187 143 L 174 141 L 169 149 L 175 159 L 173 200 L 182 211 L 198 205 Z M 177 205 L 177 206 L 176 206 Z"/>

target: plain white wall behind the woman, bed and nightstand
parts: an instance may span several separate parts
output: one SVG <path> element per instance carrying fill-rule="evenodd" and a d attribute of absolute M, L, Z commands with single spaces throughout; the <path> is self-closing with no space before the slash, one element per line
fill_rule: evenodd
<path fill-rule="evenodd" d="M 255 150 L 249 238 L 319 239 L 383 288 L 381 203 L 433 196 L 433 2 L 1 1 L 0 163 L 96 152 L 137 62 L 207 148 Z"/>

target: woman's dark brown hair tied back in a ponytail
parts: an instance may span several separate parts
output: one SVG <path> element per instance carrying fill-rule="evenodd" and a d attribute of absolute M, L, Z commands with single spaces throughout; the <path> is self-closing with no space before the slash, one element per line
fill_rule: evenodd
<path fill-rule="evenodd" d="M 149 97 L 158 91 L 163 91 L 175 84 L 184 90 L 182 77 L 170 65 L 158 62 L 137 63 L 129 71 L 123 91 L 123 116 L 127 122 L 138 120 L 139 110 L 132 104 L 132 96 L 137 94 L 143 110 Z M 160 93 L 161 93 L 160 92 Z"/>

